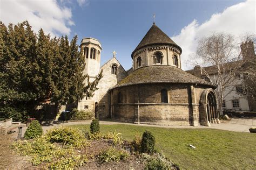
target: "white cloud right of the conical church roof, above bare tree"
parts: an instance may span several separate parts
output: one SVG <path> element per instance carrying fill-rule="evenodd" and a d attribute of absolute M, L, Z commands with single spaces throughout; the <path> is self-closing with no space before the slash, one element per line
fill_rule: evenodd
<path fill-rule="evenodd" d="M 185 64 L 190 55 L 196 52 L 198 39 L 208 36 L 213 32 L 230 33 L 240 36 L 245 33 L 255 33 L 255 2 L 249 0 L 226 8 L 222 13 L 215 13 L 209 20 L 199 24 L 193 20 L 183 27 L 180 34 L 172 37 L 182 49 L 181 61 L 183 69 L 190 69 L 191 66 Z"/>

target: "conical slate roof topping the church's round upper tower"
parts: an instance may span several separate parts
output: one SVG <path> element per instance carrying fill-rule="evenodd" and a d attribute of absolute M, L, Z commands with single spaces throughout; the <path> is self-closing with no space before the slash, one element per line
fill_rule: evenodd
<path fill-rule="evenodd" d="M 171 45 L 178 48 L 180 53 L 182 52 L 182 49 L 169 36 L 160 30 L 156 24 L 153 24 L 150 30 L 147 31 L 142 41 L 139 42 L 139 45 L 132 52 L 132 55 L 138 49 L 149 45 Z"/>

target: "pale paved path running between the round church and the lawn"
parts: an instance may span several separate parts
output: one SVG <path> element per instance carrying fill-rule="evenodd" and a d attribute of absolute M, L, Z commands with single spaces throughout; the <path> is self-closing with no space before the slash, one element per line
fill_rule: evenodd
<path fill-rule="evenodd" d="M 44 132 L 55 128 L 57 126 L 66 126 L 66 125 L 80 125 L 80 124 L 90 124 L 91 121 L 79 121 L 79 122 L 53 122 L 53 123 L 42 123 L 42 128 Z M 123 122 L 112 122 L 112 121 L 100 121 L 100 124 L 106 125 L 113 125 L 113 124 L 127 124 L 127 125 L 134 125 L 138 126 L 137 124 L 133 123 L 123 123 Z M 235 132 L 250 132 L 249 128 L 252 126 L 256 127 L 256 117 L 250 118 L 231 118 L 230 121 L 222 121 L 220 124 L 211 124 L 210 127 L 207 126 L 163 126 L 163 125 L 146 125 L 146 124 L 139 124 L 139 126 L 154 126 L 160 128 L 183 128 L 183 129 L 220 129 L 220 130 L 229 130 Z M 23 128 L 22 136 L 27 128 Z M 17 131 L 17 130 L 16 130 Z M 14 136 L 17 137 L 16 134 Z"/>

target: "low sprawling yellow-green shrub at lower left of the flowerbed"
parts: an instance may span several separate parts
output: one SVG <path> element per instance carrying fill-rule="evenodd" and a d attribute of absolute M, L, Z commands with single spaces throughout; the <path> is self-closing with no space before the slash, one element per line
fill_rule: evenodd
<path fill-rule="evenodd" d="M 59 147 L 50 143 L 45 136 L 34 140 L 18 140 L 12 143 L 11 148 L 18 154 L 30 156 L 33 166 L 43 164 L 45 168 L 68 169 L 83 165 L 87 158 L 79 155 L 73 147 Z"/>

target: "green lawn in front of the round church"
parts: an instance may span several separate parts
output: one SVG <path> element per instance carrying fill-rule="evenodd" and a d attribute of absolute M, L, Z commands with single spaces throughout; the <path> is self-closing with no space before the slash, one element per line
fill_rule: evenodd
<path fill-rule="evenodd" d="M 73 125 L 90 131 L 90 125 Z M 168 129 L 136 125 L 100 125 L 100 132 L 117 130 L 132 141 L 150 130 L 156 148 L 183 169 L 256 169 L 256 135 L 214 129 Z M 196 149 L 188 145 L 193 145 Z"/>

